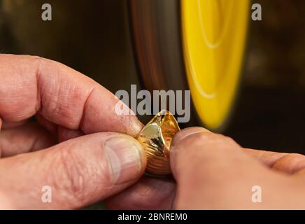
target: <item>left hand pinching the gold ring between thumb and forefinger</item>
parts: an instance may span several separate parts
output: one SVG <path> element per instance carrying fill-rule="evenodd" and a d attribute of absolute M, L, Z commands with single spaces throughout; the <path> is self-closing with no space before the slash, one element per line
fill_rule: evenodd
<path fill-rule="evenodd" d="M 139 179 L 146 157 L 132 137 L 143 125 L 114 113 L 111 92 L 41 57 L 0 62 L 0 209 L 77 209 Z M 32 116 L 39 124 L 27 123 Z M 43 186 L 52 203 L 42 202 Z"/>

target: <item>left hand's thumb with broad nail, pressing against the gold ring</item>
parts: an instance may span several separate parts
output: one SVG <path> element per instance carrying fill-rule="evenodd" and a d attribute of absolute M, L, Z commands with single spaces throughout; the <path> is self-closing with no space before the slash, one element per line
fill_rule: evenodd
<path fill-rule="evenodd" d="M 132 137 L 89 134 L 0 160 L 1 200 L 10 209 L 77 209 L 127 188 L 145 167 L 141 145 Z M 43 186 L 52 189 L 52 203 L 42 202 Z"/>

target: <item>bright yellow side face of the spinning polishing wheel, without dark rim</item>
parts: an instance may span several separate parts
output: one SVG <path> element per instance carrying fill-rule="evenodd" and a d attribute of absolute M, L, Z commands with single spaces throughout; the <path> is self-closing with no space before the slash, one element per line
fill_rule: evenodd
<path fill-rule="evenodd" d="M 197 115 L 218 129 L 239 85 L 249 18 L 248 0 L 182 0 L 187 81 Z"/>

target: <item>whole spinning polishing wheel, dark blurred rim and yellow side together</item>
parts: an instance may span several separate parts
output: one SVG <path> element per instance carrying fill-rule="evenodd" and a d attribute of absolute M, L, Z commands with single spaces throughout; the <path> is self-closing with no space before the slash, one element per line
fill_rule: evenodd
<path fill-rule="evenodd" d="M 132 0 L 137 64 L 148 90 L 191 90 L 191 124 L 221 130 L 238 89 L 248 0 Z"/>

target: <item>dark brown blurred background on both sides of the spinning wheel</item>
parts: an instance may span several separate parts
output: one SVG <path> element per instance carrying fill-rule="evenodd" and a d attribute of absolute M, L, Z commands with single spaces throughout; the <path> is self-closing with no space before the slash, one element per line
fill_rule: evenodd
<path fill-rule="evenodd" d="M 39 55 L 91 76 L 112 92 L 138 84 L 126 1 L 0 0 L 0 52 Z M 257 0 L 243 84 L 225 134 L 244 147 L 305 153 L 305 1 Z M 112 78 L 115 77 L 115 78 Z"/>

